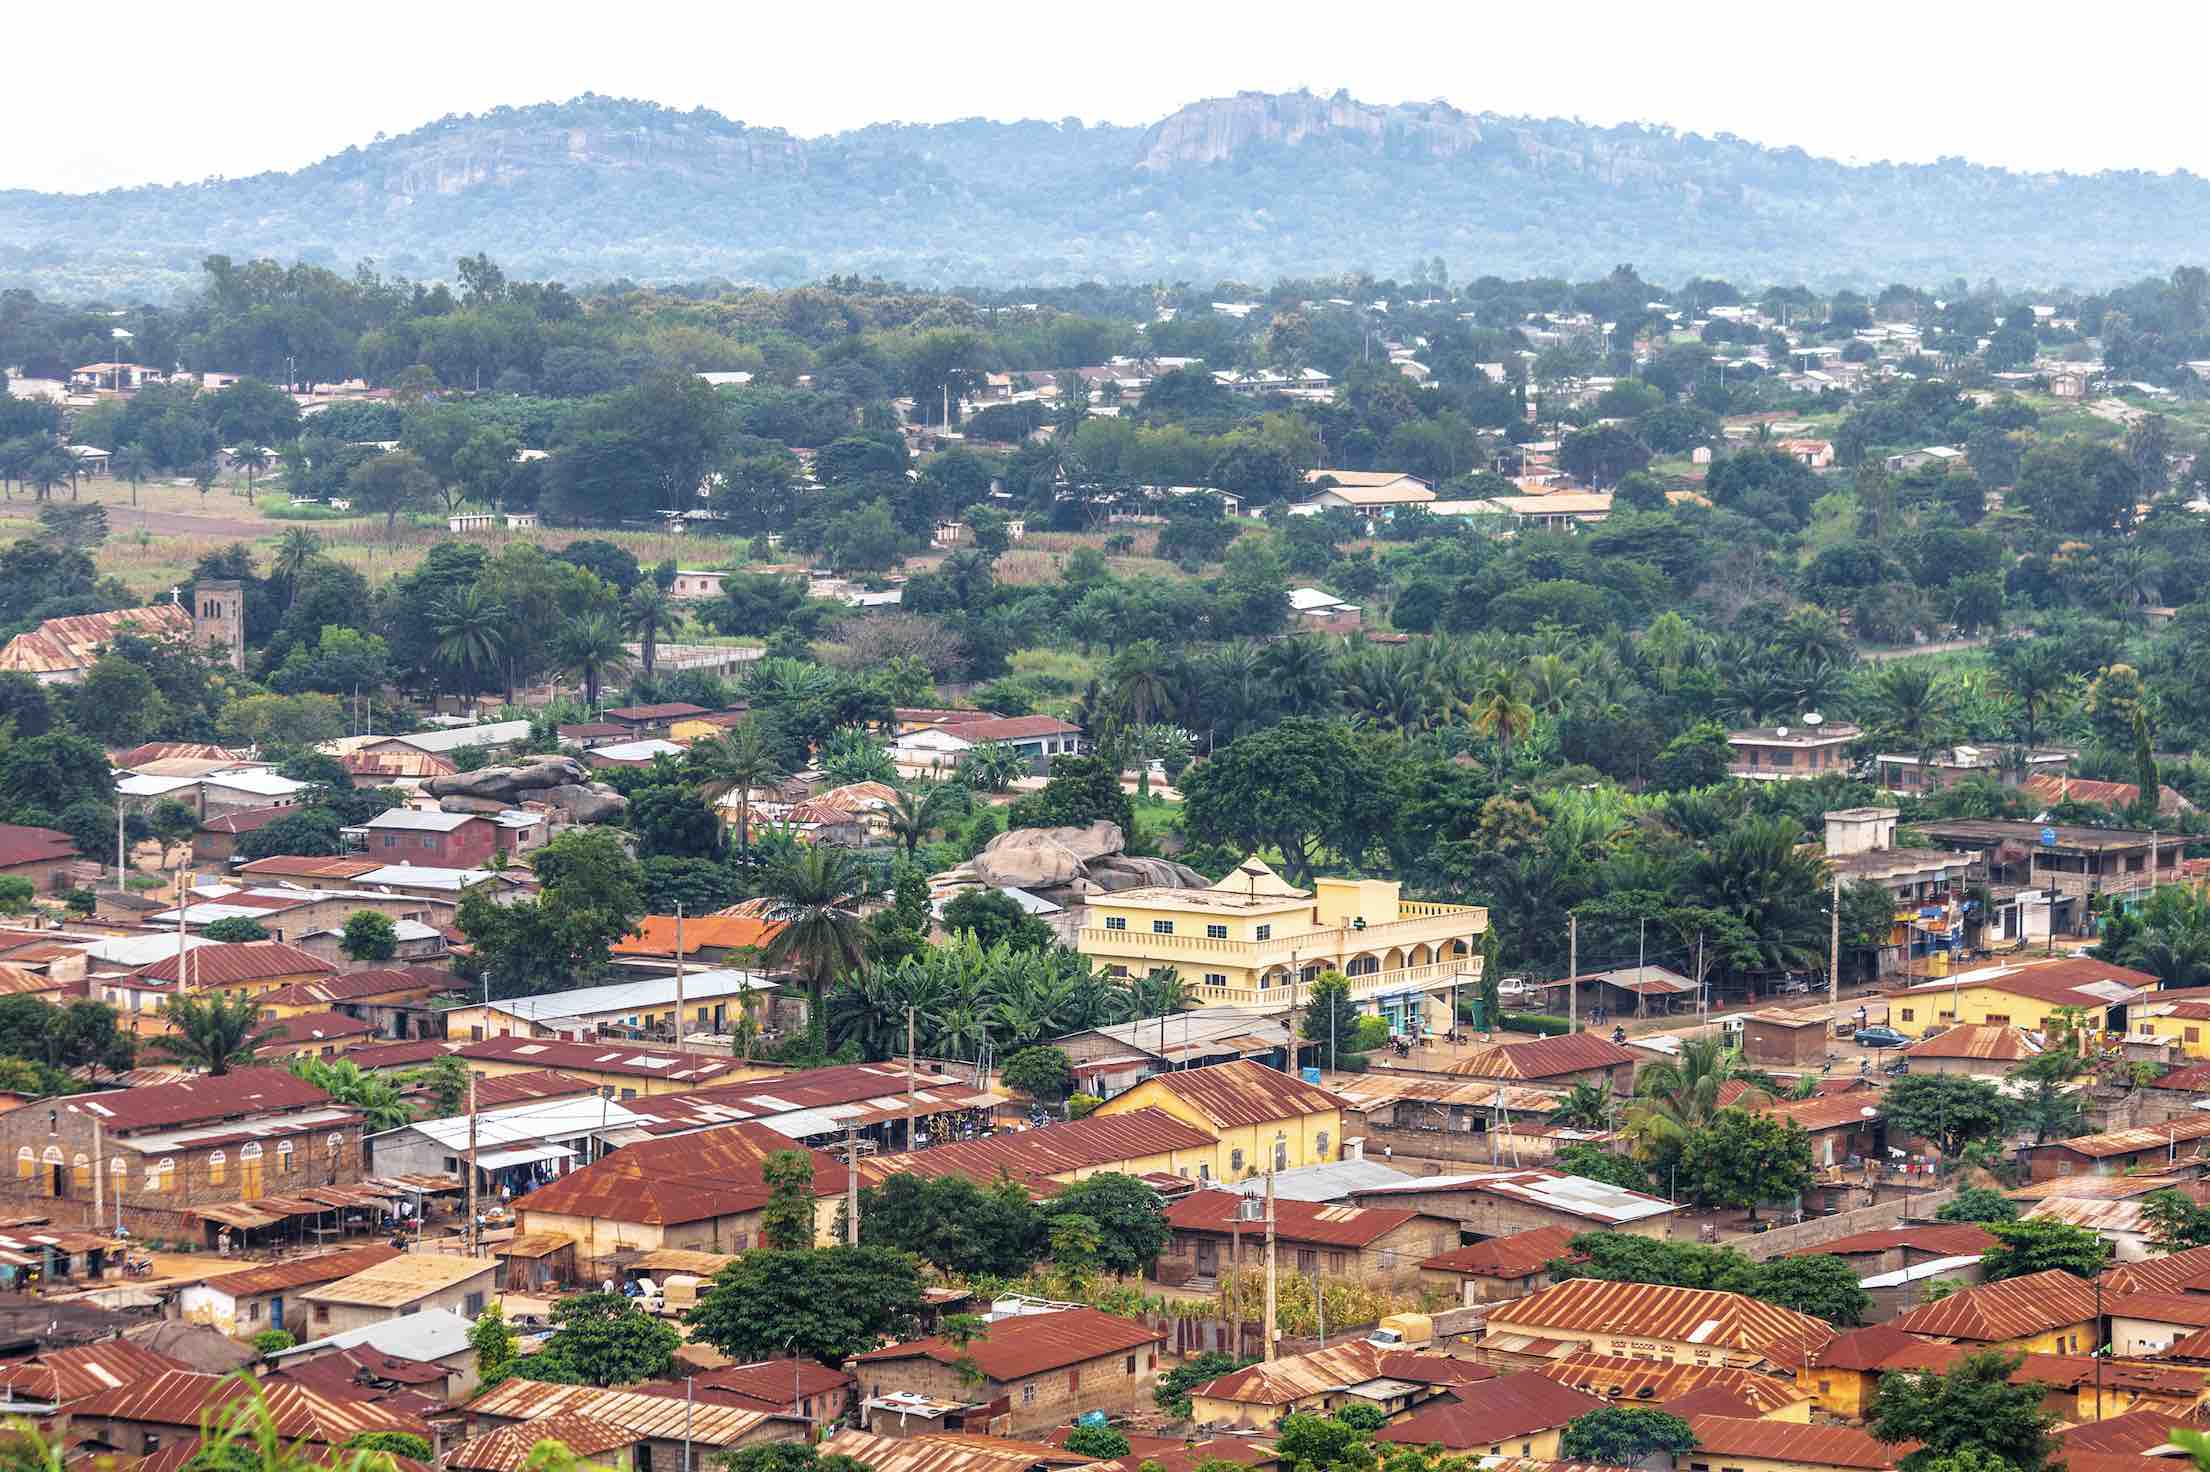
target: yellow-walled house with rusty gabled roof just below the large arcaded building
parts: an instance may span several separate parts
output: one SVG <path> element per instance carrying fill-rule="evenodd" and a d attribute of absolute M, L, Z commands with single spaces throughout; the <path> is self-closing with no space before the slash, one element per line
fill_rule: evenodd
<path fill-rule="evenodd" d="M 1216 1063 L 1145 1079 L 1114 1094 L 1096 1114 L 1103 1118 L 1160 1110 L 1211 1136 L 1211 1158 L 1178 1154 L 1178 1174 L 1196 1167 L 1196 1180 L 1249 1180 L 1269 1167 L 1326 1165 L 1344 1149 L 1344 1101 L 1291 1074 L 1251 1063 Z"/>

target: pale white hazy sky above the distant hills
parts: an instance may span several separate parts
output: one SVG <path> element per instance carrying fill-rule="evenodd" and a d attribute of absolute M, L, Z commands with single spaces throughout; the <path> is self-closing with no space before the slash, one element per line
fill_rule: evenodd
<path fill-rule="evenodd" d="M 869 122 L 1147 124 L 1233 91 L 1655 122 L 1852 161 L 2195 168 L 2199 2 L 1772 7 L 1116 4 L 15 7 L 0 188 L 298 168 L 378 130 L 575 93 L 800 135 Z"/>

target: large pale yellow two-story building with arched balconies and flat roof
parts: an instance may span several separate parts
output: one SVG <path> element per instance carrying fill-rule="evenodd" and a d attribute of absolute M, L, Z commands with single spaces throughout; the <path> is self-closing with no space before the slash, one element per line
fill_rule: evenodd
<path fill-rule="evenodd" d="M 1076 948 L 1116 977 L 1178 975 L 1198 1006 L 1299 1003 L 1324 970 L 1395 1030 L 1439 1032 L 1450 997 L 1481 979 L 1490 913 L 1408 902 L 1395 880 L 1317 880 L 1302 891 L 1260 860 L 1211 889 L 1092 895 Z"/>

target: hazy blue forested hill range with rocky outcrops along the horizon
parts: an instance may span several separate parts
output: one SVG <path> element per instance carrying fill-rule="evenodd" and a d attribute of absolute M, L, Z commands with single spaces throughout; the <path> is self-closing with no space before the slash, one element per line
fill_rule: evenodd
<path fill-rule="evenodd" d="M 446 117 L 290 175 L 7 190 L 0 285 L 164 294 L 210 252 L 444 276 L 477 250 L 572 283 L 1213 283 L 1441 256 L 1461 278 L 1633 261 L 1671 278 L 2102 285 L 2161 274 L 2206 234 L 2195 175 L 1859 168 L 1344 95 L 1244 93 L 1151 128 L 968 119 L 822 139 L 586 95 Z"/>

